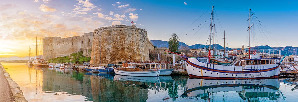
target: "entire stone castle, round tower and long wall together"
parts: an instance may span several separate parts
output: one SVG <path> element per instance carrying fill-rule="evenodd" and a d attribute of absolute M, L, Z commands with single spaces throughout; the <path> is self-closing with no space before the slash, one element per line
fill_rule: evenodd
<path fill-rule="evenodd" d="M 153 50 L 147 31 L 134 25 L 101 27 L 94 32 L 69 38 L 43 38 L 45 60 L 84 51 L 84 56 L 91 56 L 91 66 L 121 64 L 125 60 L 149 60 L 149 52 Z"/>

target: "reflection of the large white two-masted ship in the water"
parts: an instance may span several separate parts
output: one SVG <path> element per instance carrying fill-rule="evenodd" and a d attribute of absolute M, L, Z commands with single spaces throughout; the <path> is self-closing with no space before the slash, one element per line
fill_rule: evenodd
<path fill-rule="evenodd" d="M 234 91 L 243 100 L 258 101 L 260 98 L 277 100 L 280 94 L 278 87 L 278 79 L 205 80 L 189 78 L 185 87 L 186 91 L 181 96 L 210 100 L 214 93 Z"/>

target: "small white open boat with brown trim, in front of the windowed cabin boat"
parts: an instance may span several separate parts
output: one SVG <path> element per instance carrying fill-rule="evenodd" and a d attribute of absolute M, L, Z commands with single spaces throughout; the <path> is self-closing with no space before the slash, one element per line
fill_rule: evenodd
<path fill-rule="evenodd" d="M 135 68 L 114 68 L 114 72 L 125 76 L 159 77 L 160 69 L 148 69 L 149 67 L 149 64 L 140 64 Z"/>

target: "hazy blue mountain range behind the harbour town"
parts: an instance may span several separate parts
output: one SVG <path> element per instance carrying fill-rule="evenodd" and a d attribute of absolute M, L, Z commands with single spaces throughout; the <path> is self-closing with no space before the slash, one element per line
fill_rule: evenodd
<path fill-rule="evenodd" d="M 156 46 L 156 47 L 168 47 L 168 41 L 162 41 L 162 40 L 150 40 L 150 42 Z M 180 47 L 182 46 L 186 46 L 189 47 L 191 49 L 199 49 L 199 48 L 204 48 L 205 45 L 202 44 L 195 44 L 195 45 L 187 45 L 183 42 L 179 42 Z M 209 48 L 209 45 L 206 45 L 206 48 Z M 213 45 L 211 45 L 211 48 L 213 48 Z M 255 47 L 251 47 L 253 49 L 278 49 L 281 50 L 281 54 L 285 55 L 285 53 L 287 53 L 288 55 L 292 55 L 292 54 L 296 54 L 298 55 L 298 47 L 292 47 L 292 46 L 287 46 L 287 47 L 270 47 L 268 45 L 262 45 L 262 46 L 255 46 Z M 215 49 L 224 49 L 223 46 L 219 45 L 219 44 L 215 44 Z M 226 50 L 232 50 L 232 49 L 237 49 L 237 50 L 241 50 L 241 48 L 228 48 L 226 47 Z"/>

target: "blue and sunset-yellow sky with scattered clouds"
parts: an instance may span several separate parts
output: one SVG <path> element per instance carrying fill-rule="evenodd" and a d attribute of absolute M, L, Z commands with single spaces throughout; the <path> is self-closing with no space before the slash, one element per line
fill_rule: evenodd
<path fill-rule="evenodd" d="M 176 33 L 187 45 L 209 45 L 212 6 L 217 44 L 224 45 L 225 31 L 226 47 L 249 45 L 251 9 L 252 47 L 298 47 L 294 0 L 1 0 L 0 57 L 28 56 L 29 46 L 35 51 L 35 37 L 79 36 L 131 21 L 149 40 L 168 41 Z"/>

